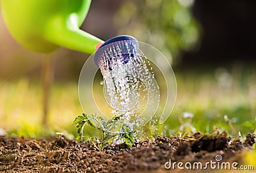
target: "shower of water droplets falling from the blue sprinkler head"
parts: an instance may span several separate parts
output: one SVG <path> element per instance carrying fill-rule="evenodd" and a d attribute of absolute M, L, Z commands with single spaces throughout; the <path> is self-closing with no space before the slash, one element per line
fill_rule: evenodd
<path fill-rule="evenodd" d="M 100 53 L 100 71 L 103 75 L 104 97 L 111 114 L 123 115 L 127 124 L 140 126 L 144 117 L 134 119 L 147 108 L 155 110 L 159 100 L 159 87 L 154 80 L 147 57 L 138 49 L 136 41 L 116 41 Z M 149 68 L 149 69 L 148 69 Z M 146 112 L 147 113 L 147 112 Z"/>

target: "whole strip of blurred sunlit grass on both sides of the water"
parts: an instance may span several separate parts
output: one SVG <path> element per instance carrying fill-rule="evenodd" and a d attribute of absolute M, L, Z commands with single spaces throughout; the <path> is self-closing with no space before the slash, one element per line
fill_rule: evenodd
<path fill-rule="evenodd" d="M 215 128 L 232 131 L 228 121 L 243 137 L 255 130 L 256 71 L 233 66 L 202 71 L 177 71 L 177 102 L 172 116 L 163 126 L 145 126 L 145 133 L 173 135 L 200 131 L 211 133 Z M 62 132 L 76 136 L 74 118 L 81 114 L 76 82 L 54 82 L 51 89 L 49 128 L 44 130 L 42 94 L 39 82 L 29 79 L 5 81 L 0 84 L 0 128 L 10 135 L 42 137 Z M 185 113 L 184 113 L 185 112 Z M 86 113 L 86 112 L 84 112 Z M 154 132 L 152 132 L 154 131 Z M 88 133 L 93 133 L 88 128 Z M 146 134 L 146 135 L 147 135 Z"/>

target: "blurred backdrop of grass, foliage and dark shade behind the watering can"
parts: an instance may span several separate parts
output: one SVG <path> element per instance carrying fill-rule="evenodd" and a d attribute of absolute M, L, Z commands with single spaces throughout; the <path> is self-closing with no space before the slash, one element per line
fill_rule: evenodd
<path fill-rule="evenodd" d="M 175 109 L 164 126 L 148 125 L 145 132 L 168 136 L 220 128 L 244 136 L 256 127 L 255 10 L 255 1 L 93 0 L 81 28 L 103 40 L 132 35 L 161 50 L 172 64 Z M 13 40 L 2 18 L 0 38 L 0 132 L 76 135 L 72 121 L 83 112 L 77 82 L 89 55 L 65 48 L 52 53 L 49 123 L 43 130 L 45 55 Z"/>

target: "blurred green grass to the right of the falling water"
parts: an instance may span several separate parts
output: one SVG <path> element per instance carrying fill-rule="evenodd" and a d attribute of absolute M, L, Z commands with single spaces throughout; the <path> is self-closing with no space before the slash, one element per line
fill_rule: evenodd
<path fill-rule="evenodd" d="M 165 129 L 169 131 L 166 133 L 170 135 L 177 132 L 177 125 L 172 128 L 173 124 L 181 124 L 181 131 L 187 129 L 193 132 L 194 128 L 196 131 L 211 133 L 216 127 L 235 136 L 225 115 L 243 137 L 246 133 L 255 132 L 255 72 L 253 68 L 241 64 L 228 69 L 216 68 L 206 73 L 205 70 L 177 72 L 177 103 L 166 123 Z M 184 112 L 190 112 L 193 117 L 184 118 Z"/>

